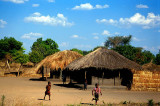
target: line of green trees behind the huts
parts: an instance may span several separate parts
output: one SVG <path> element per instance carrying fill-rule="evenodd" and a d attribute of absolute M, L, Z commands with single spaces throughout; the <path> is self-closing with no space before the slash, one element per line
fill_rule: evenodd
<path fill-rule="evenodd" d="M 103 47 L 112 49 L 140 65 L 151 61 L 157 65 L 160 65 L 160 52 L 155 56 L 150 51 L 143 50 L 141 47 L 132 46 L 130 44 L 131 40 L 132 35 L 108 37 L 104 42 Z M 49 38 L 46 40 L 38 38 L 31 46 L 31 51 L 28 54 L 25 54 L 25 49 L 22 45 L 23 43 L 17 41 L 14 37 L 4 37 L 3 39 L 0 39 L 0 59 L 4 59 L 7 65 L 10 61 L 21 64 L 31 61 L 34 64 L 37 64 L 45 57 L 60 51 L 58 44 Z M 82 55 L 87 55 L 99 47 L 102 46 L 97 46 L 90 51 L 83 51 L 77 48 L 70 50 L 76 51 Z"/>

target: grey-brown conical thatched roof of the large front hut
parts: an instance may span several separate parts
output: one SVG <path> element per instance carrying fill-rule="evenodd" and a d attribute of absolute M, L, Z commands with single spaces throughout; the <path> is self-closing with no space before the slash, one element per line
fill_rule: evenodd
<path fill-rule="evenodd" d="M 123 68 L 141 70 L 141 66 L 137 63 L 125 58 L 113 50 L 108 50 L 102 47 L 73 61 L 66 68 L 69 70 L 80 70 L 89 67 L 111 70 Z"/>

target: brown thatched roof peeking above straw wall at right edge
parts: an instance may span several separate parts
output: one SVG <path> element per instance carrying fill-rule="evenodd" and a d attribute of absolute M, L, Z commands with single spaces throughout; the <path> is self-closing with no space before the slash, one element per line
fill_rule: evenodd
<path fill-rule="evenodd" d="M 160 66 L 153 64 L 152 62 L 142 65 L 143 70 L 160 71 Z"/>

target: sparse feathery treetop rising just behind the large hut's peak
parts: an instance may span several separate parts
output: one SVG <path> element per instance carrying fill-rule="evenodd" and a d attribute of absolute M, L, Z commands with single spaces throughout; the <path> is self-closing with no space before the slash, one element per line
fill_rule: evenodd
<path fill-rule="evenodd" d="M 116 48 L 117 46 L 129 45 L 131 42 L 131 39 L 132 39 L 132 35 L 108 37 L 104 45 L 107 48 Z"/>

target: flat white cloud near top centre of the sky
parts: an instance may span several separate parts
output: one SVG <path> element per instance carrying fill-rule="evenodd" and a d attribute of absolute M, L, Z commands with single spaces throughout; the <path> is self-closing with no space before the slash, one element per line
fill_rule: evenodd
<path fill-rule="evenodd" d="M 73 10 L 93 10 L 93 9 L 103 9 L 103 8 L 109 8 L 109 5 L 96 5 L 92 6 L 90 3 L 80 4 L 80 6 L 75 6 L 72 9 Z"/>

